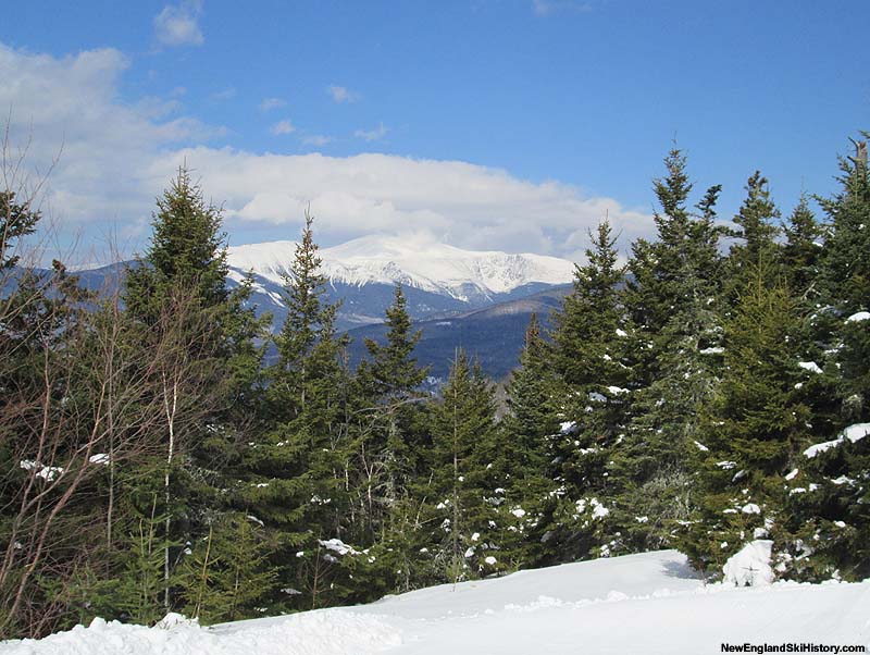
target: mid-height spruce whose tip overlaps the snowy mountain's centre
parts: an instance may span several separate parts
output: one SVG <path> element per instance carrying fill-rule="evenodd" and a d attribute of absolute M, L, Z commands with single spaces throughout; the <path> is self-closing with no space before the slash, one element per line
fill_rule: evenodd
<path fill-rule="evenodd" d="M 412 330 L 398 284 L 385 323 L 383 343 L 365 342 L 369 358 L 357 370 L 348 410 L 355 449 L 348 528 L 366 556 L 345 557 L 341 564 L 352 569 L 359 591 L 351 600 L 357 601 L 408 591 L 425 577 L 417 566 L 420 507 L 412 486 L 425 474 L 430 444 L 427 394 L 421 391 L 428 369 L 413 357 L 422 333 Z"/>

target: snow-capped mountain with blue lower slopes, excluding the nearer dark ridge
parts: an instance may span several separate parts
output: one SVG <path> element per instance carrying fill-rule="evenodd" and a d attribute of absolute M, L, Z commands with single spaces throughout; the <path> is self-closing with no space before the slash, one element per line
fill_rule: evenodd
<path fill-rule="evenodd" d="M 250 272 L 253 301 L 283 322 L 281 288 L 296 244 L 272 242 L 228 249 L 231 280 Z M 449 318 L 526 298 L 571 282 L 574 264 L 556 257 L 472 251 L 419 237 L 366 236 L 320 250 L 327 298 L 340 300 L 339 330 L 380 323 L 396 283 L 414 320 Z"/>

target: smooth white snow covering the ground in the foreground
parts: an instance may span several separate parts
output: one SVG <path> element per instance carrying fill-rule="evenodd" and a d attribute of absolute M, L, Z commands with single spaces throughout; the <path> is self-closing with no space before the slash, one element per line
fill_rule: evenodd
<path fill-rule="evenodd" d="M 98 620 L 38 642 L 7 642 L 0 654 L 694 655 L 720 653 L 723 643 L 870 645 L 868 607 L 870 581 L 705 585 L 685 557 L 662 551 L 212 628 Z"/>

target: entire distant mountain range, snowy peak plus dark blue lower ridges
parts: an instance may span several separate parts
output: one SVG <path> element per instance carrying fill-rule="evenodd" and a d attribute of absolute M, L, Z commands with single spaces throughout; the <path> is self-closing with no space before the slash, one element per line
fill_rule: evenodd
<path fill-rule="evenodd" d="M 229 284 L 253 276 L 251 302 L 279 329 L 287 311 L 284 275 L 296 244 L 273 242 L 228 249 Z M 419 238 L 368 236 L 320 250 L 328 280 L 326 300 L 341 302 L 337 328 L 352 337 L 351 363 L 365 356 L 365 339 L 386 333 L 384 311 L 402 285 L 414 328 L 415 357 L 431 375 L 446 378 L 457 347 L 480 358 L 483 370 L 504 378 L 517 366 L 531 314 L 546 324 L 571 288 L 574 264 L 540 255 L 471 251 Z M 123 264 L 77 271 L 88 288 L 116 284 Z"/>

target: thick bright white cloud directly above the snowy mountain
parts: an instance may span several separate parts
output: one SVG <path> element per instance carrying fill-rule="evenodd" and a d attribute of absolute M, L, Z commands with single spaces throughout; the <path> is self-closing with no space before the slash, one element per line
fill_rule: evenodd
<path fill-rule="evenodd" d="M 184 160 L 209 188 L 220 189 L 231 233 L 233 225 L 271 224 L 287 226 L 285 236 L 295 234 L 309 203 L 321 234 L 427 231 L 469 248 L 557 255 L 585 247 L 586 231 L 606 213 L 624 237 L 648 234 L 652 225 L 648 215 L 613 199 L 586 198 L 569 185 L 536 184 L 461 161 L 200 147 L 156 165 L 171 171 Z"/>

